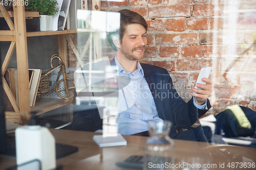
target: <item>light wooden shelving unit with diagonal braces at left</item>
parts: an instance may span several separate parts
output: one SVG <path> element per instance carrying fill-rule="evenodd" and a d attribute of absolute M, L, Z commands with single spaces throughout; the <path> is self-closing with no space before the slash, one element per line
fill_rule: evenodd
<path fill-rule="evenodd" d="M 30 112 L 36 111 L 37 115 L 72 103 L 73 99 L 42 99 L 35 104 L 35 107 L 30 107 L 30 91 L 29 91 L 29 74 L 28 74 L 28 50 L 27 37 L 58 35 L 58 50 L 59 56 L 67 65 L 67 34 L 75 34 L 79 32 L 90 32 L 91 30 L 65 30 L 65 31 L 46 31 L 46 32 L 26 32 L 25 9 L 24 6 L 14 6 L 14 25 L 5 8 L 0 5 L 0 10 L 3 13 L 10 31 L 0 31 L 0 41 L 11 41 L 11 45 L 2 65 L 2 75 L 4 75 L 7 66 L 10 62 L 13 51 L 16 47 L 17 70 L 18 70 L 18 91 L 19 105 L 12 95 L 10 88 L 7 85 L 4 77 L 3 87 L 7 96 L 15 110 L 15 112 L 6 112 L 6 119 L 18 124 L 27 124 L 30 119 Z"/>

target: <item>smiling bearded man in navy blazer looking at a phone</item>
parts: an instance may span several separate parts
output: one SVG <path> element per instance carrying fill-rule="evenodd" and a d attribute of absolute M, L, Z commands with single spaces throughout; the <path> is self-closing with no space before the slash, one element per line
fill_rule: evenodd
<path fill-rule="evenodd" d="M 188 103 L 184 102 L 173 87 L 166 69 L 139 63 L 144 57 L 147 44 L 145 19 L 126 9 L 119 13 L 119 35 L 109 34 L 108 37 L 116 51 L 111 64 L 117 66 L 118 76 L 129 77 L 131 82 L 118 94 L 118 132 L 125 135 L 148 135 L 148 122 L 169 120 L 172 122 L 170 137 L 206 141 L 201 126 L 180 133 L 176 132 L 175 127 L 190 127 L 210 108 L 207 99 L 213 90 L 211 80 L 203 79 L 206 85 L 197 84 L 201 90 L 194 88 L 196 93 L 190 92 L 193 97 Z M 99 122 L 90 116 L 86 119 L 91 126 Z M 91 131 L 98 129 L 96 126 L 86 128 Z"/>

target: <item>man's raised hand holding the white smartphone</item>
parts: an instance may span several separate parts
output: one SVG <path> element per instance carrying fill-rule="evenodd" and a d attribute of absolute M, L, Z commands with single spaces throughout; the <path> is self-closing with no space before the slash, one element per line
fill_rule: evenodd
<path fill-rule="evenodd" d="M 203 105 L 203 103 L 211 95 L 211 92 L 214 90 L 214 88 L 212 88 L 212 86 L 211 86 L 211 80 L 210 79 L 203 78 L 202 81 L 206 82 L 206 85 L 199 84 L 199 83 L 196 84 L 196 87 L 201 88 L 201 90 L 197 89 L 197 88 L 194 88 L 193 91 L 196 92 L 196 93 L 190 92 L 190 95 L 195 96 L 196 103 L 198 105 Z"/>

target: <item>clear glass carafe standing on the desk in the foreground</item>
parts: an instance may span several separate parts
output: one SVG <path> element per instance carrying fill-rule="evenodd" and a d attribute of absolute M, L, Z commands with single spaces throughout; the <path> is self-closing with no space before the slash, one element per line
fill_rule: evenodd
<path fill-rule="evenodd" d="M 169 137 L 169 121 L 148 123 L 150 138 L 144 144 L 143 169 L 175 169 L 175 143 Z"/>

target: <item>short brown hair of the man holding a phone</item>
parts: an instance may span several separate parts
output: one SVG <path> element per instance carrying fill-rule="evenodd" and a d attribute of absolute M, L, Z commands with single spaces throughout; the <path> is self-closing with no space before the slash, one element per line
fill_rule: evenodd
<path fill-rule="evenodd" d="M 119 29 L 119 37 L 117 37 L 117 38 L 119 38 L 120 43 L 122 43 L 122 38 L 123 38 L 123 35 L 125 34 L 127 25 L 130 25 L 133 23 L 138 23 L 138 24 L 142 25 L 145 28 L 145 30 L 147 31 L 147 23 L 146 23 L 145 19 L 137 12 L 133 12 L 133 11 L 130 11 L 127 9 L 122 9 L 118 12 L 120 13 L 120 29 Z M 117 32 L 109 33 L 108 41 L 109 41 L 111 47 L 113 48 L 113 50 L 117 51 L 117 47 L 113 42 L 113 36 L 117 36 Z"/>

